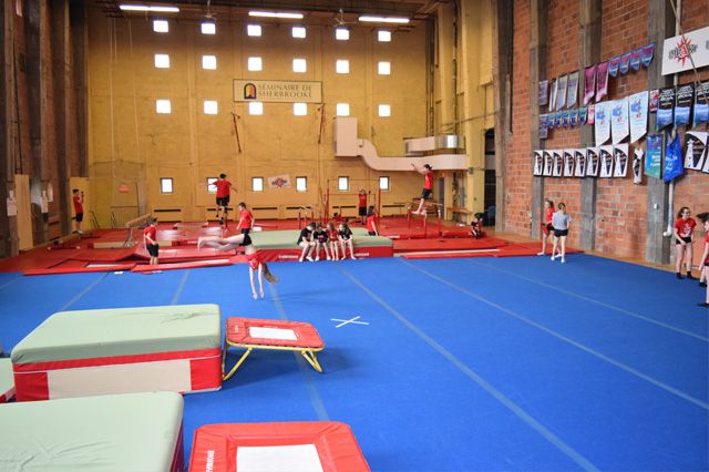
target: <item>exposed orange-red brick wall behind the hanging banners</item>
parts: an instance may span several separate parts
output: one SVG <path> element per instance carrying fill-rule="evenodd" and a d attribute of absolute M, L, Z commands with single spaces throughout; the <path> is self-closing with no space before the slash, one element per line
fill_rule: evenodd
<path fill-rule="evenodd" d="M 506 197 L 507 230 L 530 234 L 531 208 L 531 140 L 530 140 L 530 2 L 514 2 L 514 40 L 512 89 L 513 136 L 507 146 L 505 178 L 510 192 Z M 648 3 L 644 0 L 604 0 L 603 1 L 603 41 L 604 60 L 629 52 L 647 44 Z M 682 2 L 682 29 L 691 31 L 709 24 L 709 9 L 706 0 L 685 0 Z M 579 2 L 549 0 L 547 18 L 547 68 L 546 79 L 579 69 Z M 660 60 L 661 51 L 656 50 L 655 61 Z M 705 68 L 701 80 L 709 79 Z M 680 74 L 679 82 L 695 80 L 693 73 Z M 608 98 L 621 99 L 648 89 L 647 70 L 640 68 L 608 81 Z M 580 127 L 555 129 L 549 138 L 543 141 L 545 148 L 567 148 L 580 146 Z M 627 140 L 626 140 L 627 141 Z M 645 150 L 645 140 L 636 145 Z M 630 146 L 630 154 L 633 147 Z M 647 181 L 647 177 L 645 177 Z M 564 202 L 575 222 L 580 220 L 580 179 L 545 178 L 544 196 L 554 202 Z M 676 207 L 690 206 L 693 213 L 709 211 L 709 175 L 689 171 L 676 185 Z M 514 183 L 514 185 L 511 185 Z M 645 257 L 647 226 L 647 186 L 633 184 L 633 178 L 598 178 L 596 197 L 596 249 L 619 257 Z M 577 229 L 576 226 L 575 229 Z M 578 230 L 569 234 L 569 244 L 578 245 Z M 700 249 L 698 249 L 700 252 Z"/>

